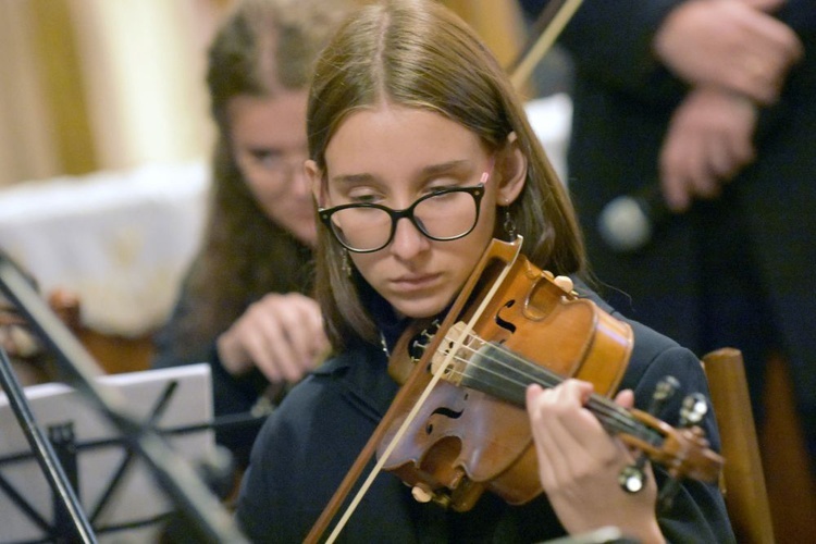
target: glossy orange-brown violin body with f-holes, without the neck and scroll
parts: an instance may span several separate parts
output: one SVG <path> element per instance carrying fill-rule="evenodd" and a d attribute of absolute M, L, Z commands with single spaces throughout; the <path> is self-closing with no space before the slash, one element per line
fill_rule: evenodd
<path fill-rule="evenodd" d="M 608 396 L 617 391 L 632 349 L 627 323 L 561 288 L 520 254 L 520 244 L 494 240 L 424 355 L 411 356 L 419 332 L 413 329 L 390 361 L 399 381 L 406 369 L 422 368 L 405 385 L 409 401 L 419 403 L 434 369 L 456 351 L 384 469 L 415 487 L 415 496 L 426 494 L 458 511 L 472 508 L 485 490 L 510 504 L 542 492 L 523 404 L 534 381 L 526 379 L 531 362 L 547 375 L 591 382 Z M 499 273 L 504 277 L 497 283 Z M 471 331 L 465 331 L 466 323 Z M 404 420 L 395 419 L 380 454 Z"/>

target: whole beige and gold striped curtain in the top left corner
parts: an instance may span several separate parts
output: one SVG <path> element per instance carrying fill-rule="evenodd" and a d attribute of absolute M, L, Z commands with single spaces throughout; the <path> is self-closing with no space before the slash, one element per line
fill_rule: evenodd
<path fill-rule="evenodd" d="M 207 154 L 225 0 L 0 0 L 0 185 Z"/>

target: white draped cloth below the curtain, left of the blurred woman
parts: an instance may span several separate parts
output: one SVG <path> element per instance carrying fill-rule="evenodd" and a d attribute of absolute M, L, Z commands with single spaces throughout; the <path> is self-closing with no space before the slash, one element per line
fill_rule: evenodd
<path fill-rule="evenodd" d="M 171 310 L 208 182 L 203 162 L 193 162 L 15 185 L 0 193 L 0 247 L 44 295 L 78 295 L 89 327 L 138 336 Z"/>

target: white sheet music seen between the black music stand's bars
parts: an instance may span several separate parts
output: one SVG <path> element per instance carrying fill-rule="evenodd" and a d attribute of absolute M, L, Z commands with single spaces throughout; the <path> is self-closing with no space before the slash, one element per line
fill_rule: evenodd
<path fill-rule="evenodd" d="M 212 421 L 212 392 L 209 364 L 149 370 L 107 375 L 100 384 L 116 387 L 126 398 L 127 409 L 137 421 L 150 418 L 151 409 L 171 381 L 177 386 L 161 417 L 159 429 L 172 429 Z M 108 420 L 98 413 L 79 394 L 64 384 L 29 386 L 26 397 L 38 425 L 47 433 L 49 425 L 72 423 L 77 444 L 121 437 Z M 176 435 L 170 443 L 191 462 L 211 454 L 214 448 L 212 431 Z M 0 459 L 29 452 L 8 399 L 0 392 Z M 109 486 L 116 469 L 126 456 L 123 445 L 81 448 L 77 454 L 77 490 L 83 509 L 90 518 L 99 499 Z M 0 463 L 0 474 L 49 523 L 52 521 L 51 490 L 33 457 Z M 151 472 L 138 456 L 111 496 L 97 520 L 92 520 L 97 537 L 103 542 L 156 542 L 162 523 L 139 530 L 99 532 L 100 528 L 151 520 L 172 511 L 172 505 L 154 483 Z M 9 495 L 0 489 L 0 542 L 28 542 L 45 537 L 46 533 L 33 522 Z"/>

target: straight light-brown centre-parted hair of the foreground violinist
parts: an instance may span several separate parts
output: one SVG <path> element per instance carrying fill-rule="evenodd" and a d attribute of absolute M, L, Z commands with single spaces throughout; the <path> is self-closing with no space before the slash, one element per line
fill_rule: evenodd
<path fill-rule="evenodd" d="M 388 102 L 435 111 L 498 149 L 510 133 L 528 160 L 521 196 L 509 212 L 523 252 L 554 273 L 581 272 L 583 243 L 572 205 L 505 72 L 475 33 L 433 1 L 384 1 L 350 17 L 318 60 L 308 109 L 309 153 L 325 172 L 325 149 L 359 109 Z M 500 228 L 497 228 L 498 232 Z M 335 349 L 376 342 L 360 299 L 362 279 L 343 271 L 343 248 L 318 231 L 317 294 Z"/>

